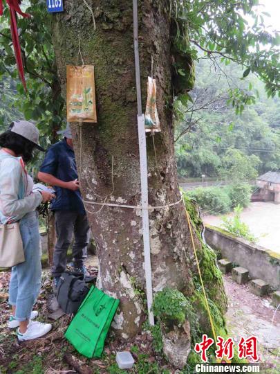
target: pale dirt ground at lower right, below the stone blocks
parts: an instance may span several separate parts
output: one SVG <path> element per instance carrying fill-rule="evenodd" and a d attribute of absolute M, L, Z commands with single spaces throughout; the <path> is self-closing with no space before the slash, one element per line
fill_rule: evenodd
<path fill-rule="evenodd" d="M 275 312 L 270 296 L 255 296 L 248 285 L 238 285 L 230 276 L 224 277 L 224 284 L 229 335 L 235 342 L 254 335 L 258 340 L 260 362 L 270 373 L 271 369 L 280 373 L 280 310 Z M 267 372 L 265 368 L 262 373 Z"/>

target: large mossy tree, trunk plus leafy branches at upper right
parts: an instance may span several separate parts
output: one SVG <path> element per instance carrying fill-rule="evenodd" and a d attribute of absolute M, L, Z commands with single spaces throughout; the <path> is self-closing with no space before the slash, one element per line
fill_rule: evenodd
<path fill-rule="evenodd" d="M 72 123 L 71 127 L 82 195 L 97 243 L 102 286 L 121 301 L 114 327 L 127 339 L 141 330 L 146 318 L 141 297 L 145 290 L 141 210 L 88 202 L 140 205 L 132 0 L 87 3 L 89 8 L 85 1 L 64 0 L 64 13 L 53 16 L 53 44 L 64 95 L 66 65 L 77 64 L 79 46 L 84 63 L 95 65 L 98 123 Z M 153 60 L 162 130 L 155 135 L 156 154 L 152 138 L 147 136 L 149 204 L 162 206 L 180 199 L 173 107 L 174 96 L 189 100 L 187 91 L 194 84 L 192 60 L 196 50 L 189 43 L 205 51 L 215 63 L 218 56 L 224 62 L 232 59 L 245 66 L 244 76 L 250 71 L 258 73 L 273 96 L 279 89 L 279 64 L 273 48 L 261 51 L 259 45 L 275 44 L 277 36 L 268 37 L 261 28 L 245 29 L 243 17 L 252 13 L 256 0 L 138 3 L 142 98 L 144 103 Z M 249 53 L 254 45 L 256 53 Z M 236 112 L 242 110 L 247 97 L 238 92 L 232 96 Z M 207 297 L 216 325 L 223 328 L 226 298 L 221 273 L 212 251 L 201 244 L 200 221 L 194 207 L 189 203 L 188 208 Z M 200 325 L 209 328 L 183 204 L 151 211 L 149 218 L 153 291 L 169 286 L 183 292 L 196 310 Z M 185 331 L 187 338 L 179 343 L 187 347 L 190 338 L 186 326 Z M 169 338 L 176 340 L 178 335 Z"/>

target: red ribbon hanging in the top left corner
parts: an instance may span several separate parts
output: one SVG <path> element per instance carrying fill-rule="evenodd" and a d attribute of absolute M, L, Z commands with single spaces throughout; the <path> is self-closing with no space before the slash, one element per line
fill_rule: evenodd
<path fill-rule="evenodd" d="M 19 33 L 17 32 L 17 15 L 22 17 L 30 17 L 28 13 L 24 13 L 19 8 L 21 0 L 6 0 L 6 3 L 10 7 L 10 31 L 12 34 L 12 44 L 15 51 L 15 60 L 17 62 L 17 69 L 19 71 L 19 77 L 21 78 L 22 83 L 24 84 L 24 89 L 26 89 L 26 80 L 24 78 L 24 64 L 22 62 L 21 56 L 21 46 L 19 44 Z M 0 15 L 3 15 L 3 0 L 0 0 Z"/>

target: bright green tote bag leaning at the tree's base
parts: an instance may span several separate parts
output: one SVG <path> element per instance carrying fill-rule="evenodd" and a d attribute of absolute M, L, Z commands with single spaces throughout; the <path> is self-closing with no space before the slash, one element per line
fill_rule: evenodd
<path fill-rule="evenodd" d="M 65 333 L 66 339 L 82 355 L 101 357 L 119 303 L 92 286 Z"/>

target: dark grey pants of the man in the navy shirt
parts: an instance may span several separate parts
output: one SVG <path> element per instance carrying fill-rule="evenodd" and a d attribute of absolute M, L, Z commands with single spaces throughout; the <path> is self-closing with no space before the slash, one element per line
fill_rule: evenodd
<path fill-rule="evenodd" d="M 67 251 L 72 242 L 74 267 L 82 267 L 86 258 L 86 248 L 89 240 L 89 226 L 86 214 L 77 211 L 55 211 L 55 231 L 57 242 L 53 253 L 53 276 L 60 276 L 66 269 Z"/>

